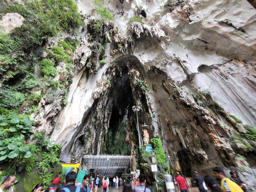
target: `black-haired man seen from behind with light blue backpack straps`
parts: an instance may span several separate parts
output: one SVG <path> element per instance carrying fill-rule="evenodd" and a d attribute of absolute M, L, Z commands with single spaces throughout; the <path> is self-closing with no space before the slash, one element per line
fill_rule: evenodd
<path fill-rule="evenodd" d="M 61 189 L 60 192 L 85 192 L 85 190 L 81 187 L 79 191 L 77 191 L 77 187 L 75 186 L 77 174 L 75 172 L 70 172 L 66 176 L 65 185 L 66 187 Z"/>

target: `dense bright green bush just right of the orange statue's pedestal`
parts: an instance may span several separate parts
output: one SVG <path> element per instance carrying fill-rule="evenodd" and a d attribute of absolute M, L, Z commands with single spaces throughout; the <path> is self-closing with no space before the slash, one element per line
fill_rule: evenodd
<path fill-rule="evenodd" d="M 165 165 L 168 168 L 168 170 L 170 170 L 170 166 L 167 163 L 165 163 L 166 156 L 165 156 L 164 149 L 162 147 L 161 140 L 159 138 L 153 138 L 153 139 L 150 139 L 150 143 L 153 146 L 153 152 L 155 153 L 156 160 L 159 163 Z"/>

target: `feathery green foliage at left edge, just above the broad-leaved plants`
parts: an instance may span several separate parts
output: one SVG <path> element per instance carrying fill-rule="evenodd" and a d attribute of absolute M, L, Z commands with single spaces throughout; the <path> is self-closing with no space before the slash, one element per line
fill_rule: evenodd
<path fill-rule="evenodd" d="M 26 96 L 17 91 L 15 87 L 3 86 L 0 88 L 0 107 L 18 107 L 25 101 Z"/>

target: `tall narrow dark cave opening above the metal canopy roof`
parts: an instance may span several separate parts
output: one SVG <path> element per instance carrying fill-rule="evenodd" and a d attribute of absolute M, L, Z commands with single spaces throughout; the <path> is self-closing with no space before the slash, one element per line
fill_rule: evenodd
<path fill-rule="evenodd" d="M 130 145 L 125 141 L 127 124 L 131 116 L 133 95 L 128 67 L 123 66 L 112 77 L 109 91 L 109 103 L 112 105 L 111 117 L 107 133 L 104 135 L 103 154 L 130 155 Z"/>

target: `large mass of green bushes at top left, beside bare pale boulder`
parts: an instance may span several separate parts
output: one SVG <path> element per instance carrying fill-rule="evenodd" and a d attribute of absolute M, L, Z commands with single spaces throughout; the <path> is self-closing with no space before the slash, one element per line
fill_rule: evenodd
<path fill-rule="evenodd" d="M 82 24 L 78 7 L 73 0 L 23 0 L 24 5 L 11 2 L 9 12 L 16 12 L 26 20 L 16 35 L 23 43 L 40 44 L 42 39 L 56 36 L 60 30 L 68 30 Z"/>

